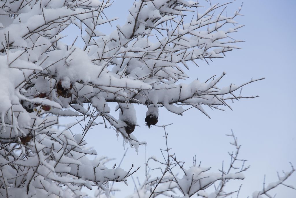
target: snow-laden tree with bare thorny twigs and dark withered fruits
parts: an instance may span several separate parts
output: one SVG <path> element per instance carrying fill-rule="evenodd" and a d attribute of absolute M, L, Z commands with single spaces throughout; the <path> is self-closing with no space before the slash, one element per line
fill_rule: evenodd
<path fill-rule="evenodd" d="M 110 124 L 132 147 L 146 144 L 131 134 L 136 130 L 133 104 L 147 106 L 145 121 L 150 127 L 157 123 L 159 107 L 179 115 L 194 107 L 209 117 L 202 106 L 231 109 L 229 100 L 257 97 L 242 96 L 241 88 L 263 78 L 224 88 L 218 83 L 226 73 L 205 82 L 180 83 L 188 78 L 184 70 L 189 62 L 208 63 L 238 48 L 234 43 L 240 40 L 230 34 L 242 27 L 234 20 L 241 8 L 229 16 L 227 4 L 210 4 L 206 9 L 193 1 L 136 1 L 127 23 L 104 35 L 100 25 L 116 20 L 104 15 L 110 0 L 1 1 L 1 196 L 82 197 L 83 186 L 97 186 L 108 194 L 106 183 L 126 183 L 138 169 L 133 165 L 130 170 L 108 169 L 109 159 L 89 160 L 86 156 L 96 151 L 86 149 L 83 138 L 92 126 Z M 75 46 L 77 38 L 72 45 L 61 42 L 61 32 L 70 24 L 86 33 L 83 48 Z M 119 118 L 108 103 L 118 104 Z M 78 117 L 78 121 L 61 130 L 59 116 Z M 86 123 L 83 133 L 72 132 L 81 122 Z M 197 164 L 185 170 L 168 150 L 167 160 L 160 162 L 165 166 L 162 179 L 143 184 L 144 190 L 151 189 L 150 197 L 161 194 L 155 191 L 159 184 L 177 184 L 166 186 L 162 193 L 176 188 L 190 197 L 221 181 L 219 196 L 226 181 L 243 178 L 223 170 L 222 176 L 208 175 Z M 176 178 L 171 166 L 180 166 L 184 178 Z M 213 179 L 193 187 L 190 182 L 201 178 L 190 180 L 192 172 Z M 293 172 L 292 167 L 285 178 Z M 266 194 L 265 189 L 262 192 Z"/>

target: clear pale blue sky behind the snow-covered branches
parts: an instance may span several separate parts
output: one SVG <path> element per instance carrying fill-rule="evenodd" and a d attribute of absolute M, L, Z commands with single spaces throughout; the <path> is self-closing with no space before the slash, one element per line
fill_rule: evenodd
<path fill-rule="evenodd" d="M 218 2 L 213 1 L 212 4 Z M 241 6 L 242 1 L 234 1 L 228 8 L 234 12 Z M 103 26 L 102 32 L 111 32 L 117 24 L 123 24 L 129 14 L 128 9 L 133 0 L 115 0 L 112 7 L 106 9 L 108 18 L 119 18 L 112 22 L 112 26 Z M 236 39 L 245 42 L 237 44 L 241 50 L 234 50 L 226 54 L 225 58 L 214 60 L 207 65 L 199 62 L 199 67 L 190 65 L 188 74 L 196 79 L 208 79 L 212 75 L 221 75 L 226 72 L 226 77 L 220 86 L 230 83 L 241 84 L 251 78 L 265 77 L 265 80 L 252 83 L 243 88 L 244 95 L 260 95 L 255 99 L 242 99 L 231 104 L 233 111 L 212 111 L 206 108 L 211 119 L 197 110 L 191 109 L 183 116 L 174 115 L 161 108 L 158 125 L 173 123 L 166 128 L 169 147 L 173 148 L 177 158 L 186 161 L 187 166 L 192 166 L 194 155 L 197 161 L 202 161 L 205 167 L 212 167 L 216 172 L 221 168 L 222 161 L 229 163 L 227 151 L 233 148 L 232 141 L 225 134 L 230 134 L 231 129 L 242 145 L 240 158 L 247 159 L 250 169 L 245 172 L 246 178 L 242 181 L 240 197 L 251 196 L 253 191 L 262 190 L 263 177 L 266 183 L 277 180 L 276 171 L 290 171 L 291 162 L 296 167 L 296 81 L 295 81 L 295 9 L 296 1 L 245 1 L 241 13 L 244 16 L 236 18 L 245 26 L 235 33 Z M 67 28 L 62 34 L 67 35 L 64 42 L 72 43 L 76 37 L 75 27 Z M 78 32 L 79 34 L 79 32 Z M 81 40 L 76 45 L 82 46 Z M 114 105 L 110 105 L 114 110 Z M 148 129 L 144 125 L 147 107 L 136 105 L 137 123 L 133 134 L 138 140 L 146 141 L 147 146 L 141 146 L 139 152 L 123 146 L 122 137 L 117 138 L 115 131 L 97 126 L 86 135 L 89 146 L 95 148 L 99 155 L 116 158 L 109 164 L 119 163 L 125 149 L 127 156 L 121 167 L 129 169 L 131 164 L 141 166 L 134 177 L 144 178 L 145 160 L 149 156 L 161 157 L 159 148 L 164 148 L 164 132 L 160 127 L 153 126 Z M 117 115 L 115 113 L 113 115 Z M 77 128 L 77 130 L 81 130 Z M 117 197 L 124 197 L 134 190 L 133 182 L 129 179 L 130 186 L 119 185 L 123 192 Z M 286 184 L 296 186 L 296 174 L 292 175 Z M 231 184 L 237 189 L 240 183 Z M 280 186 L 271 191 L 276 197 L 295 198 L 296 191 Z"/>

